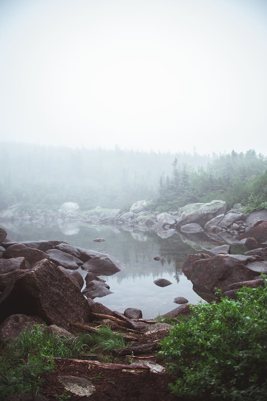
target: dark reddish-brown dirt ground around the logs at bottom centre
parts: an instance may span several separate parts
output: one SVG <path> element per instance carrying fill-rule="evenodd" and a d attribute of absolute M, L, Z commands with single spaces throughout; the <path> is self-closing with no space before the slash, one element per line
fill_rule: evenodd
<path fill-rule="evenodd" d="M 116 324 L 111 324 L 113 331 L 122 331 Z M 126 332 L 125 332 L 126 333 Z M 129 335 L 129 332 L 126 334 Z M 148 344 L 153 341 L 162 340 L 168 335 L 168 331 L 164 330 L 153 334 L 131 334 L 137 337 L 137 341 L 132 345 Z M 140 358 L 142 357 L 142 358 Z M 89 358 L 87 358 L 89 360 Z M 96 360 L 96 358 L 93 358 Z M 146 354 L 139 354 L 134 356 L 136 360 L 149 360 L 164 365 L 163 361 L 155 356 L 155 351 Z M 100 360 L 101 361 L 101 360 Z M 114 360 L 114 363 L 129 365 L 130 360 L 126 356 L 120 356 Z M 110 369 L 101 369 L 98 366 L 90 366 L 86 362 L 78 363 L 74 360 L 56 360 L 56 369 L 53 375 L 46 379 L 44 392 L 42 393 L 48 400 L 55 400 L 56 394 L 64 392 L 64 388 L 58 381 L 58 375 L 71 375 L 90 379 L 92 384 L 96 387 L 90 397 L 88 396 L 75 396 L 68 391 L 66 394 L 71 395 L 71 400 L 82 401 L 90 399 L 90 401 L 106 401 L 106 400 L 142 400 L 142 401 L 174 401 L 182 400 L 171 394 L 168 383 L 171 382 L 169 373 L 151 373 L 145 371 L 141 373 L 128 373 L 122 371 L 114 371 Z M 185 399 L 183 399 L 185 401 Z"/>

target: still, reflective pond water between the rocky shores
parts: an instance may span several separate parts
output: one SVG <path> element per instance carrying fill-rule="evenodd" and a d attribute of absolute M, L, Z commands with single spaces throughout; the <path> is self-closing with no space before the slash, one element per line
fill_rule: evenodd
<path fill-rule="evenodd" d="M 1 223 L 1 227 L 13 241 L 57 239 L 116 257 L 124 263 L 124 269 L 111 276 L 100 276 L 106 280 L 113 294 L 95 298 L 94 301 L 119 312 L 130 307 L 141 309 L 143 318 L 155 318 L 176 308 L 179 305 L 173 301 L 178 296 L 197 304 L 201 298 L 193 291 L 192 283 L 183 274 L 181 267 L 189 253 L 209 253 L 213 246 L 222 245 L 205 235 L 191 235 L 186 238 L 174 231 L 162 230 L 156 233 L 153 229 L 141 231 L 130 227 L 127 231 L 102 225 L 49 227 Z M 103 237 L 106 241 L 92 241 L 98 237 Z M 158 255 L 163 256 L 163 259 L 155 261 L 153 258 Z M 83 277 L 87 274 L 82 269 L 79 271 Z M 153 283 L 157 278 L 165 278 L 172 284 L 164 288 L 158 287 Z"/>

